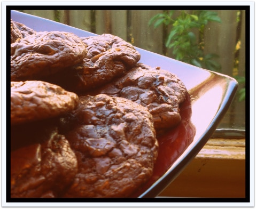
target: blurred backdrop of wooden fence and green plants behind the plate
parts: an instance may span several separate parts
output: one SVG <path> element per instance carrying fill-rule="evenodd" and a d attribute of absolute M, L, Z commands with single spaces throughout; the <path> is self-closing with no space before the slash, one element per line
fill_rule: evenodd
<path fill-rule="evenodd" d="M 243 134 L 244 10 L 19 11 L 95 34 L 113 34 L 139 48 L 236 78 L 239 83 L 236 98 L 218 128 L 227 129 L 227 135 Z"/>

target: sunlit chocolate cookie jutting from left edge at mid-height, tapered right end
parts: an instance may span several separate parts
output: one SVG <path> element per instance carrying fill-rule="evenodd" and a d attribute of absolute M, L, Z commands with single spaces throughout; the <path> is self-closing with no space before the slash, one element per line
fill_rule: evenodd
<path fill-rule="evenodd" d="M 42 82 L 11 82 L 11 124 L 59 116 L 73 110 L 78 96 Z"/>

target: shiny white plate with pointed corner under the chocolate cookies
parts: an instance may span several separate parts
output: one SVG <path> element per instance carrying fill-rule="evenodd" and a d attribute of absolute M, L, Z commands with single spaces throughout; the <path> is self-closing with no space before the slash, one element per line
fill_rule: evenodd
<path fill-rule="evenodd" d="M 11 11 L 14 21 L 36 31 L 67 31 L 80 37 L 96 34 L 33 15 Z M 197 68 L 162 55 L 136 48 L 139 62 L 176 74 L 190 98 L 181 107 L 182 122 L 159 138 L 160 154 L 152 178 L 134 197 L 156 197 L 203 148 L 234 98 L 237 82 L 226 75 Z M 191 101 L 191 102 L 190 102 Z"/>

